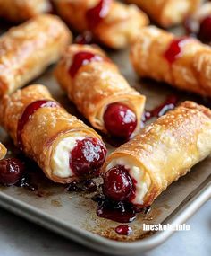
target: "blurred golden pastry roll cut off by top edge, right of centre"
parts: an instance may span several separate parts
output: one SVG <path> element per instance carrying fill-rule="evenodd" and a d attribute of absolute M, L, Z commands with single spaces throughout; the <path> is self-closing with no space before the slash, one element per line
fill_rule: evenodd
<path fill-rule="evenodd" d="M 127 0 L 137 4 L 159 25 L 167 28 L 181 23 L 185 17 L 194 13 L 201 0 Z"/>

